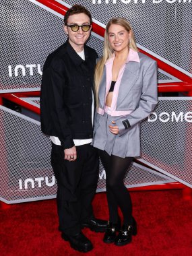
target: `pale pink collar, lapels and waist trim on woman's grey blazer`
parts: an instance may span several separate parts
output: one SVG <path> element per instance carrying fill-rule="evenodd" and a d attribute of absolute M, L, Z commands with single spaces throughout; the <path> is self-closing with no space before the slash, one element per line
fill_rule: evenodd
<path fill-rule="evenodd" d="M 106 102 L 106 96 L 107 96 L 107 94 L 110 90 L 110 84 L 111 84 L 111 81 L 112 81 L 112 69 L 113 69 L 114 59 L 115 59 L 115 54 L 113 55 L 112 58 L 108 59 L 105 63 L 105 65 L 106 65 L 106 94 L 105 94 L 104 102 Z M 120 87 L 120 84 L 121 84 L 121 79 L 122 79 L 123 73 L 125 71 L 125 65 L 129 61 L 140 62 L 138 53 L 136 51 L 134 51 L 133 49 L 129 49 L 129 54 L 127 56 L 127 60 L 125 61 L 125 64 L 121 67 L 121 69 L 119 71 L 119 75 L 117 77 L 117 81 L 115 83 L 115 88 L 114 88 L 114 91 L 113 91 L 113 98 L 112 98 L 112 102 L 111 102 L 111 106 L 110 106 L 110 112 L 108 112 L 108 107 L 106 105 L 104 105 L 104 109 L 97 108 L 97 113 L 98 114 L 104 115 L 104 112 L 106 112 L 109 115 L 111 115 L 111 117 L 118 117 L 118 116 L 131 114 L 132 110 L 121 110 L 121 111 L 116 110 L 116 108 L 117 108 L 117 97 L 118 97 L 118 94 L 119 94 L 119 87 Z"/>

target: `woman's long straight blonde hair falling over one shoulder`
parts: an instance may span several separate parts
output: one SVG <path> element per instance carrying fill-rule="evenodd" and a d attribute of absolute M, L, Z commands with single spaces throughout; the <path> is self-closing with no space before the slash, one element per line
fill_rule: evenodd
<path fill-rule="evenodd" d="M 131 28 L 131 25 L 129 24 L 129 22 L 127 22 L 127 20 L 125 20 L 123 18 L 113 18 L 113 19 L 109 20 L 108 23 L 106 24 L 106 30 L 104 32 L 103 56 L 98 61 L 97 65 L 96 65 L 95 75 L 94 75 L 96 106 L 97 107 L 98 107 L 98 90 L 99 90 L 100 82 L 101 82 L 101 79 L 102 79 L 102 73 L 103 73 L 103 70 L 104 70 L 104 65 L 105 65 L 106 61 L 108 59 L 110 59 L 110 57 L 113 56 L 113 53 L 114 53 L 113 49 L 110 47 L 110 43 L 108 42 L 108 29 L 109 29 L 110 25 L 112 25 L 112 24 L 122 26 L 123 28 L 125 28 L 125 30 L 127 30 L 127 32 L 131 31 L 131 38 L 129 40 L 128 47 L 129 47 L 129 49 L 131 48 L 134 51 L 138 51 L 137 45 L 136 45 L 136 42 L 135 42 L 135 36 L 133 34 L 133 29 Z"/>

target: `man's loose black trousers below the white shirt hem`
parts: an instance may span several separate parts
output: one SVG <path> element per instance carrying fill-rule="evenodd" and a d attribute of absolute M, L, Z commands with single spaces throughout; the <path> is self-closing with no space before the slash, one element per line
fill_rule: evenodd
<path fill-rule="evenodd" d="M 61 146 L 52 143 L 51 165 L 57 179 L 59 230 L 77 234 L 80 224 L 94 217 L 92 199 L 98 183 L 98 154 L 90 143 L 77 146 L 77 160 L 64 160 Z"/>

